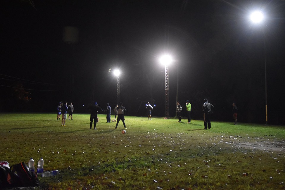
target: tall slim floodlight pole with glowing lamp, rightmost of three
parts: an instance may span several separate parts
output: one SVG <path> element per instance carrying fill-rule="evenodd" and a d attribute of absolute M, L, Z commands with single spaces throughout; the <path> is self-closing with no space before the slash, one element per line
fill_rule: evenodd
<path fill-rule="evenodd" d="M 250 15 L 251 21 L 255 24 L 259 24 L 264 19 L 262 12 L 255 11 Z M 266 75 L 266 42 L 265 33 L 263 32 L 264 40 L 264 68 L 265 68 L 265 124 L 267 125 L 267 75 Z"/>

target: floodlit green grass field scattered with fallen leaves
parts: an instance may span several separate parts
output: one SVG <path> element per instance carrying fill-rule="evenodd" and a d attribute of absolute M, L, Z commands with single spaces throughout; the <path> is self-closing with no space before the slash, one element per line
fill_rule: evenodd
<path fill-rule="evenodd" d="M 43 157 L 37 189 L 285 189 L 284 126 L 125 116 L 89 129 L 88 114 L 0 114 L 0 161 Z M 113 119 L 113 115 L 111 116 Z"/>

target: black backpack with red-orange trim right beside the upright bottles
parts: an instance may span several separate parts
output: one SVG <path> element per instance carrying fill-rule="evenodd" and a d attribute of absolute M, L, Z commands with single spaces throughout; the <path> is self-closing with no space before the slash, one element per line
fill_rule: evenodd
<path fill-rule="evenodd" d="M 31 172 L 29 167 L 24 162 L 12 165 L 10 167 L 10 170 L 12 171 L 13 175 L 17 174 L 20 178 L 20 187 L 39 186 L 39 179 L 37 178 L 37 174 Z"/>

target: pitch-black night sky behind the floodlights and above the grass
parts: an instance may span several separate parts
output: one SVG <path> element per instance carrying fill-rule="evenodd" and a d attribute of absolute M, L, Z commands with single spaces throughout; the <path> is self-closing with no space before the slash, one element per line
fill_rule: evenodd
<path fill-rule="evenodd" d="M 204 98 L 215 106 L 214 119 L 231 121 L 232 102 L 243 122 L 265 122 L 265 59 L 268 121 L 284 123 L 285 1 L 251 0 L 92 0 L 1 2 L 2 112 L 52 112 L 59 101 L 75 110 L 97 100 L 102 108 L 120 101 L 127 115 L 145 115 L 145 101 L 164 116 L 164 66 L 169 68 L 170 115 L 178 101 L 192 104 L 201 119 Z M 259 26 L 253 10 L 265 12 Z M 77 27 L 79 40 L 66 44 L 65 26 Z M 84 106 L 83 106 L 84 105 Z"/>

